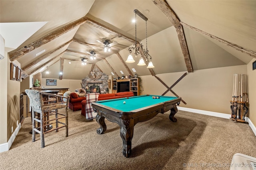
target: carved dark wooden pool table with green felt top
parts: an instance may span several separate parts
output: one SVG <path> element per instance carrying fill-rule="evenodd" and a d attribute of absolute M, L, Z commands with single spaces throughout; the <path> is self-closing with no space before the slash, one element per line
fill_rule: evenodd
<path fill-rule="evenodd" d="M 158 113 L 168 110 L 170 110 L 169 119 L 176 122 L 174 115 L 178 111 L 176 104 L 179 105 L 180 100 L 180 97 L 142 95 L 92 102 L 92 107 L 97 110 L 96 121 L 100 125 L 97 133 L 102 134 L 106 131 L 105 118 L 118 123 L 123 140 L 122 152 L 128 158 L 131 155 L 133 130 L 136 123 L 147 121 Z"/>

